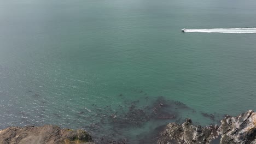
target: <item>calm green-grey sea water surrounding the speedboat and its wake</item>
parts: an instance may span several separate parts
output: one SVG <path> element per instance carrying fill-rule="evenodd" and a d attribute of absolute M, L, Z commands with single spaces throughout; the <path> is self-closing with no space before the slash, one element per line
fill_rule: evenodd
<path fill-rule="evenodd" d="M 0 129 L 150 143 L 255 110 L 256 33 L 181 32 L 255 27 L 252 0 L 0 0 Z"/>

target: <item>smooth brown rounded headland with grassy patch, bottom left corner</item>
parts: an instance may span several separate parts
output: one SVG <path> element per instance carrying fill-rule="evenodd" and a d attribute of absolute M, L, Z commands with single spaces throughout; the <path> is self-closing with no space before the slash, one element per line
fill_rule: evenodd
<path fill-rule="evenodd" d="M 43 127 L 10 127 L 0 130 L 0 143 L 92 144 L 92 138 L 84 130 L 61 129 L 55 125 L 44 125 Z"/>

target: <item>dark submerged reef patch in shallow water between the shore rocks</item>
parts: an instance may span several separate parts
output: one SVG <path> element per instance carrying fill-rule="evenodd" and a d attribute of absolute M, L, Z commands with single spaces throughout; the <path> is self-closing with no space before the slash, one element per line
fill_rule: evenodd
<path fill-rule="evenodd" d="M 123 94 L 118 97 L 123 97 Z M 145 101 L 147 103 L 142 104 Z M 185 121 L 184 112 L 196 113 L 181 101 L 166 100 L 161 96 L 149 99 L 147 95 L 135 101 L 125 101 L 125 105 L 118 107 L 93 106 L 100 120 L 83 129 L 91 132 L 96 143 L 156 143 L 166 123 L 180 124 Z M 197 113 L 208 118 L 209 124 L 217 122 L 219 118 L 217 113 Z"/>

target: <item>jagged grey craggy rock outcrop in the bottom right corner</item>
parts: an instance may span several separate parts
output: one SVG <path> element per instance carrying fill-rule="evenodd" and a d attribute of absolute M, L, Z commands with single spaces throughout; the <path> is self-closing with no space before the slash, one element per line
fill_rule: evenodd
<path fill-rule="evenodd" d="M 256 113 L 252 110 L 237 117 L 226 116 L 220 127 L 212 125 L 201 127 L 192 125 L 188 118 L 182 125 L 168 124 L 161 131 L 158 144 L 171 143 L 254 143 L 256 144 Z"/>

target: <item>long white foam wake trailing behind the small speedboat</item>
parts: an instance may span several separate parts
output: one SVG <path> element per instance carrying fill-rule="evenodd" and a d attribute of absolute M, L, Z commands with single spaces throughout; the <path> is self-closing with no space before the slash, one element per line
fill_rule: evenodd
<path fill-rule="evenodd" d="M 256 33 L 256 28 L 185 29 L 190 33 Z"/>

